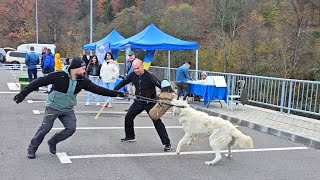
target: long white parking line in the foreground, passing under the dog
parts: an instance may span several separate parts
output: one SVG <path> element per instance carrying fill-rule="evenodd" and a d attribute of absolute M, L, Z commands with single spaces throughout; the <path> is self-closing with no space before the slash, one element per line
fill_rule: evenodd
<path fill-rule="evenodd" d="M 262 149 L 235 149 L 233 153 L 241 152 L 270 152 L 270 151 L 292 151 L 292 150 L 306 150 L 308 147 L 284 147 L 284 148 L 262 148 Z M 228 150 L 220 151 L 221 153 L 227 153 Z M 180 155 L 193 155 L 193 154 L 212 154 L 213 151 L 190 151 L 181 152 Z M 151 157 L 151 156 L 174 156 L 175 152 L 165 153 L 138 153 L 138 154 L 98 154 L 98 155 L 78 155 L 68 156 L 67 153 L 56 153 L 62 164 L 72 163 L 71 159 L 88 159 L 88 158 L 121 158 L 121 157 Z"/>

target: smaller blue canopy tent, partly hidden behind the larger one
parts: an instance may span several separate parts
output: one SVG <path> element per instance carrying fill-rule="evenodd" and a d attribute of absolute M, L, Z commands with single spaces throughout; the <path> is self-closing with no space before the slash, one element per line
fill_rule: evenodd
<path fill-rule="evenodd" d="M 105 44 L 105 43 L 112 43 L 112 42 L 116 42 L 116 41 L 121 41 L 124 40 L 125 38 L 123 36 L 121 36 L 121 34 L 119 34 L 116 30 L 112 30 L 110 32 L 110 34 L 108 34 L 106 37 L 104 37 L 103 39 L 94 42 L 94 43 L 90 43 L 90 44 L 85 44 L 83 45 L 83 50 L 96 50 L 97 46 Z M 118 57 L 118 50 L 117 49 L 111 49 L 112 54 L 114 56 L 115 59 L 117 59 Z"/>

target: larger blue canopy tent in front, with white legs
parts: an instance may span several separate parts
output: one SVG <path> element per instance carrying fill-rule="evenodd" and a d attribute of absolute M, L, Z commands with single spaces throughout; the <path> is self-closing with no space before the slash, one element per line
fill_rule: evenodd
<path fill-rule="evenodd" d="M 124 50 L 127 44 L 131 45 L 131 49 L 146 50 L 146 57 L 144 59 L 144 66 L 148 69 L 151 65 L 151 61 L 155 50 L 168 50 L 168 70 L 170 70 L 170 50 L 196 50 L 196 77 L 198 78 L 198 43 L 184 41 L 173 36 L 170 36 L 154 24 L 150 24 L 140 33 L 118 42 L 111 42 L 111 49 Z M 170 73 L 168 73 L 168 79 L 170 79 Z"/>

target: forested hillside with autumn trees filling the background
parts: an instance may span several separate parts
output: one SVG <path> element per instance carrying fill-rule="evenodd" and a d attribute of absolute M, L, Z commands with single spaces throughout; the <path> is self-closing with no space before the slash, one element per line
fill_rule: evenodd
<path fill-rule="evenodd" d="M 150 23 L 199 43 L 199 69 L 320 80 L 319 0 L 94 0 L 93 40 Z M 0 47 L 35 42 L 35 0 L 0 0 Z M 79 56 L 89 43 L 90 0 L 38 0 L 39 43 Z M 142 58 L 143 52 L 138 54 Z M 123 56 L 121 56 L 123 59 Z M 173 67 L 195 61 L 173 51 Z M 120 59 L 121 61 L 121 59 Z M 166 66 L 158 51 L 153 65 Z"/>

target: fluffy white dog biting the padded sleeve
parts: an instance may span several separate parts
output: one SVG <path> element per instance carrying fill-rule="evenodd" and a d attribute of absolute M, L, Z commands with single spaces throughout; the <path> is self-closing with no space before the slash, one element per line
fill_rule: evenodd
<path fill-rule="evenodd" d="M 170 101 L 173 107 L 173 114 L 179 117 L 185 135 L 179 141 L 176 153 L 184 144 L 191 145 L 198 135 L 210 135 L 209 144 L 215 152 L 215 159 L 206 161 L 207 165 L 213 165 L 220 161 L 220 150 L 227 149 L 226 157 L 231 157 L 231 147 L 239 145 L 242 148 L 252 148 L 253 142 L 250 136 L 244 135 L 235 128 L 229 121 L 220 117 L 209 116 L 207 113 L 197 111 L 190 107 L 187 101 L 173 99 Z M 178 107 L 176 107 L 178 106 Z"/>

